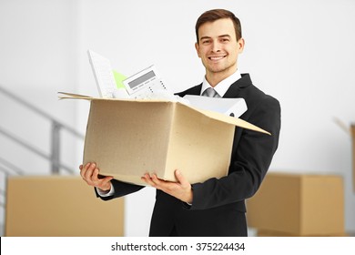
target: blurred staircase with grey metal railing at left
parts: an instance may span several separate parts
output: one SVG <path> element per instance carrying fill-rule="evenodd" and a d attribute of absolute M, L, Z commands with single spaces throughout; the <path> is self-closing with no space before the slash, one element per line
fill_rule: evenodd
<path fill-rule="evenodd" d="M 19 166 L 19 163 L 28 162 L 29 166 L 33 166 L 36 160 L 46 162 L 50 169 L 47 173 L 49 175 L 77 174 L 77 171 L 73 170 L 76 168 L 73 168 L 73 166 L 69 167 L 63 162 L 64 157 L 61 154 L 61 148 L 63 147 L 64 138 L 83 143 L 84 136 L 74 128 L 57 120 L 56 117 L 47 114 L 43 109 L 28 103 L 24 98 L 16 96 L 2 85 L 0 85 L 0 96 L 3 98 L 0 98 L 0 236 L 4 236 L 6 179 L 9 176 L 30 175 L 31 173 L 28 172 L 24 166 Z M 6 102 L 10 101 L 11 106 L 6 104 Z M 23 108 L 24 115 L 31 112 L 31 114 L 35 116 L 33 117 L 33 121 L 41 121 L 41 123 L 38 124 L 38 127 L 41 127 L 42 129 L 47 127 L 48 130 L 46 133 L 41 132 L 37 135 L 41 137 L 46 136 L 49 141 L 48 146 L 29 142 L 28 139 L 23 137 L 23 135 L 21 136 L 14 131 L 16 128 L 9 127 L 6 117 L 2 116 L 2 114 L 6 113 L 7 117 L 11 117 L 11 109 L 14 105 L 17 108 Z M 46 121 L 46 125 L 43 125 L 43 121 Z M 24 127 L 21 126 L 18 128 L 26 127 L 24 125 Z M 35 139 L 33 138 L 32 140 Z M 8 155 L 10 154 L 8 153 L 11 153 L 12 156 L 9 157 Z"/>

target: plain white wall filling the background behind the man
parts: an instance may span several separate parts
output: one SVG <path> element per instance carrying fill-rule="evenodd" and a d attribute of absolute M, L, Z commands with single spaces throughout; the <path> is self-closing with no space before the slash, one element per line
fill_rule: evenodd
<path fill-rule="evenodd" d="M 355 231 L 350 136 L 333 121 L 340 117 L 350 125 L 355 118 L 353 1 L 27 2 L 0 0 L 0 84 L 31 94 L 38 105 L 46 95 L 46 110 L 82 132 L 88 104 L 58 103 L 56 91 L 97 95 L 88 48 L 127 76 L 155 64 L 179 91 L 200 83 L 204 74 L 194 49 L 198 15 L 216 7 L 233 11 L 246 40 L 239 69 L 282 107 L 270 170 L 343 176 L 346 229 Z M 80 147 L 76 155 L 81 158 Z M 127 196 L 127 236 L 147 235 L 154 193 L 147 188 Z"/>

